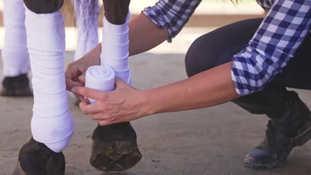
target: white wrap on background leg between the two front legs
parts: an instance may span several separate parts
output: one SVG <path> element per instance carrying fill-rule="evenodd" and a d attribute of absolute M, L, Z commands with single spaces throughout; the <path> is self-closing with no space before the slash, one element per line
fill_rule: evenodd
<path fill-rule="evenodd" d="M 99 6 L 94 6 L 94 8 L 85 8 L 83 6 L 83 3 L 96 5 L 98 4 L 97 0 L 80 0 L 79 2 L 72 0 L 72 2 L 74 4 L 78 29 L 77 49 L 75 52 L 75 60 L 77 60 L 98 45 Z M 90 12 L 91 10 L 95 12 Z M 93 15 L 90 16 L 89 14 Z"/>

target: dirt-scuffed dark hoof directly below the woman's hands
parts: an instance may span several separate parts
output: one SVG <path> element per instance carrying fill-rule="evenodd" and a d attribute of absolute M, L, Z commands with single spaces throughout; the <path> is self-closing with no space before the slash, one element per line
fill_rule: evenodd
<path fill-rule="evenodd" d="M 129 122 L 98 125 L 92 136 L 90 164 L 105 172 L 119 172 L 135 166 L 142 158 L 136 138 Z"/>

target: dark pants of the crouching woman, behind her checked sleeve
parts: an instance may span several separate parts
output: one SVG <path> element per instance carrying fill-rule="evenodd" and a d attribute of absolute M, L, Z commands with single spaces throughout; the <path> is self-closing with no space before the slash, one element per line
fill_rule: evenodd
<path fill-rule="evenodd" d="M 188 76 L 231 61 L 233 55 L 246 48 L 261 21 L 262 18 L 238 21 L 197 38 L 186 54 Z M 273 81 L 288 88 L 311 89 L 310 52 L 311 36 L 308 35 L 295 57 L 287 62 Z"/>

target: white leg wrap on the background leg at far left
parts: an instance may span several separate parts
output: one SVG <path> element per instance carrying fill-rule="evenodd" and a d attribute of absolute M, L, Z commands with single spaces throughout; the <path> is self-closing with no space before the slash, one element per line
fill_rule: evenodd
<path fill-rule="evenodd" d="M 4 0 L 5 40 L 2 51 L 3 74 L 14 77 L 30 70 L 23 0 Z"/>

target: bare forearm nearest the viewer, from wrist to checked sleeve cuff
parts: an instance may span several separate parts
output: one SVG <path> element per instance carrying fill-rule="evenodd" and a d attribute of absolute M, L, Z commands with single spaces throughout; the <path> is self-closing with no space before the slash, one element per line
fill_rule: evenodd
<path fill-rule="evenodd" d="M 231 79 L 232 62 L 180 82 L 143 91 L 149 114 L 193 110 L 238 98 Z"/>

